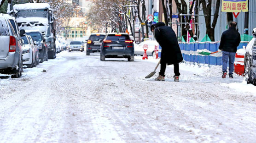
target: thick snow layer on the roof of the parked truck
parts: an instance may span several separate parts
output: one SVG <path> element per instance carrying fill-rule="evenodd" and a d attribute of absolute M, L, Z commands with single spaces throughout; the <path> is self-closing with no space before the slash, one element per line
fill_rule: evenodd
<path fill-rule="evenodd" d="M 48 8 L 50 8 L 50 5 L 47 3 L 26 3 L 13 6 L 13 9 L 15 10 L 39 10 Z"/>

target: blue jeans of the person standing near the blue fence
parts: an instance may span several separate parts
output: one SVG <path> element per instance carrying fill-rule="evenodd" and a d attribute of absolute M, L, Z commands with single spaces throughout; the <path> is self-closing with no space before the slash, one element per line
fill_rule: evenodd
<path fill-rule="evenodd" d="M 235 52 L 222 51 L 222 71 L 227 72 L 227 60 L 229 59 L 229 62 L 228 62 L 229 75 L 233 75 L 235 55 L 236 55 Z"/>

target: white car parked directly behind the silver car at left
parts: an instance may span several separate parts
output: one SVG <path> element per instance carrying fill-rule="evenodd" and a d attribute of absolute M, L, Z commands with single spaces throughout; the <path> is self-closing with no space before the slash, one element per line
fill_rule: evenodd
<path fill-rule="evenodd" d="M 27 65 L 29 68 L 35 67 L 40 62 L 37 45 L 30 35 L 23 34 L 21 38 L 23 39 L 23 65 Z"/>

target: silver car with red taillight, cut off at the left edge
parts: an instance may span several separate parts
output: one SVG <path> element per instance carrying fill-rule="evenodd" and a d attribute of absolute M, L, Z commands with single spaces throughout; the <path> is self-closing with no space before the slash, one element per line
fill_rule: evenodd
<path fill-rule="evenodd" d="M 0 14 L 0 73 L 18 78 L 22 71 L 22 47 L 17 23 L 13 17 Z"/>

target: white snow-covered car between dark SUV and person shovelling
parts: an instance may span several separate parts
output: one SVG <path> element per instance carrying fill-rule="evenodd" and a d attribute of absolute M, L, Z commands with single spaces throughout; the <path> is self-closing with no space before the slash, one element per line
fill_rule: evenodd
<path fill-rule="evenodd" d="M 148 49 L 146 50 L 147 55 L 155 56 L 155 46 L 159 45 L 155 40 L 144 41 L 134 46 L 134 55 L 143 55 L 145 52 L 143 49 L 143 45 L 145 44 L 148 45 Z"/>

